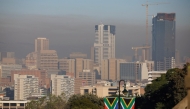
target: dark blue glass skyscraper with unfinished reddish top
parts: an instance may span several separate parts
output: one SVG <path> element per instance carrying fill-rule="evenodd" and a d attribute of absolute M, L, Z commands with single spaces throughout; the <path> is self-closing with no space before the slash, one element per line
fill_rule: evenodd
<path fill-rule="evenodd" d="M 152 60 L 155 70 L 175 67 L 175 13 L 158 13 L 152 20 Z"/>

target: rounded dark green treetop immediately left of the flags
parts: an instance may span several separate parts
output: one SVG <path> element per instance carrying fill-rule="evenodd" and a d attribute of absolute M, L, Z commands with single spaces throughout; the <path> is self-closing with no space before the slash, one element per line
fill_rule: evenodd
<path fill-rule="evenodd" d="M 103 105 L 103 98 L 93 94 L 78 94 L 69 98 L 66 109 L 103 109 Z"/>

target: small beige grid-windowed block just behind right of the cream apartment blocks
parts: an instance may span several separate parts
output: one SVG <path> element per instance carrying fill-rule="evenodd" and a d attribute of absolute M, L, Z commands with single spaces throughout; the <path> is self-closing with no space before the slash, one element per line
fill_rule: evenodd
<path fill-rule="evenodd" d="M 94 85 L 96 82 L 95 73 L 90 70 L 83 70 L 82 72 L 79 72 L 78 78 L 85 80 L 88 85 Z"/>

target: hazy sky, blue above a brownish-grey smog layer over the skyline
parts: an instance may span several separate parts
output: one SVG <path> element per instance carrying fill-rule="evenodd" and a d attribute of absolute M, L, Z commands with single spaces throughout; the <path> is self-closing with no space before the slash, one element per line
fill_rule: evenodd
<path fill-rule="evenodd" d="M 176 13 L 176 48 L 190 57 L 190 0 L 162 0 L 150 5 L 149 15 Z M 160 3 L 161 0 L 149 0 Z M 132 56 L 132 46 L 145 43 L 146 0 L 0 0 L 0 51 L 24 58 L 34 40 L 46 37 L 60 58 L 71 52 L 90 55 L 96 24 L 116 26 L 116 57 Z M 149 43 L 151 44 L 151 16 Z"/>

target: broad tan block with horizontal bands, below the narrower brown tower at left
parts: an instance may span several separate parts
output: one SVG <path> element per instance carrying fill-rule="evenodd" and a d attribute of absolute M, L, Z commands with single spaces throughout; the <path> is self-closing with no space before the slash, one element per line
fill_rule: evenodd
<path fill-rule="evenodd" d="M 45 70 L 58 69 L 58 56 L 55 50 L 41 50 L 38 53 L 38 68 Z"/>

